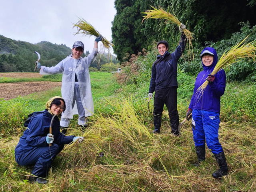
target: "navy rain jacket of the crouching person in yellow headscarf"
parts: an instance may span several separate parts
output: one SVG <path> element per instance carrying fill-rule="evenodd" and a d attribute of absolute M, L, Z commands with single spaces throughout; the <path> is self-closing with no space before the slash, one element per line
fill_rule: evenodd
<path fill-rule="evenodd" d="M 34 112 L 30 114 L 28 120 L 24 123 L 27 129 L 15 148 L 15 155 L 22 154 L 32 150 L 35 147 L 49 146 L 46 142 L 46 136 L 50 132 L 50 122 L 52 114 L 48 110 Z M 66 136 L 60 132 L 60 120 L 57 116 L 52 122 L 52 134 L 54 143 L 69 144 L 73 141 L 74 136 Z"/>

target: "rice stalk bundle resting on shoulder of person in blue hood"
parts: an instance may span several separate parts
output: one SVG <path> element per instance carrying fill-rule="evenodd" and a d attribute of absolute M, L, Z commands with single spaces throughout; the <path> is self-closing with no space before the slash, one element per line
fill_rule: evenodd
<path fill-rule="evenodd" d="M 244 43 L 244 41 L 248 38 L 248 36 L 233 46 L 229 51 L 225 51 L 223 55 L 221 56 L 220 60 L 216 64 L 214 70 L 212 71 L 211 75 L 215 75 L 220 70 L 230 66 L 231 64 L 234 64 L 236 62 L 239 62 L 239 59 L 242 58 L 252 58 L 255 61 L 255 52 L 256 52 L 256 40 Z M 205 81 L 197 90 L 198 96 L 201 95 L 204 90 L 206 89 L 206 86 L 208 85 L 208 81 Z"/>

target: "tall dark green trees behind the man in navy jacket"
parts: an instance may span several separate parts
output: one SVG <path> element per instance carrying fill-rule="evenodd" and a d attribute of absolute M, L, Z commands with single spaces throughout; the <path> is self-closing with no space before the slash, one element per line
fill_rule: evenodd
<path fill-rule="evenodd" d="M 240 22 L 256 25 L 256 0 L 115 0 L 116 16 L 112 25 L 114 53 L 120 62 L 126 53 L 137 54 L 152 42 L 167 40 L 174 48 L 179 40 L 178 26 L 164 20 L 142 23 L 142 12 L 161 7 L 174 13 L 194 32 L 194 47 L 206 42 L 228 39 L 240 30 Z"/>

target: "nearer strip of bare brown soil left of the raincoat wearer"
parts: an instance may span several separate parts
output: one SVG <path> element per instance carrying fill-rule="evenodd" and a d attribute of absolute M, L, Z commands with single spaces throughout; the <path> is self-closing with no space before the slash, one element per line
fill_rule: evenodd
<path fill-rule="evenodd" d="M 24 74 L 24 73 L 22 73 Z M 5 100 L 25 96 L 34 92 L 48 90 L 54 87 L 60 87 L 61 82 L 18 82 L 18 83 L 0 83 L 0 98 Z"/>

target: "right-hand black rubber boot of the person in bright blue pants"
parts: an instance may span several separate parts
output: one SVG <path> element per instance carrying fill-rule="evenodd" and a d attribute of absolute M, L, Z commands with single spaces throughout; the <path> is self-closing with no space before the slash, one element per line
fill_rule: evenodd
<path fill-rule="evenodd" d="M 225 157 L 225 154 L 224 154 L 224 151 L 219 153 L 219 154 L 215 154 L 214 153 L 214 156 L 220 166 L 220 169 L 215 171 L 212 176 L 216 179 L 220 179 L 222 178 L 224 175 L 228 175 L 228 165 L 227 165 L 227 162 L 226 162 L 226 157 Z"/>

